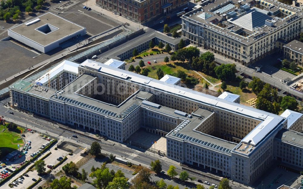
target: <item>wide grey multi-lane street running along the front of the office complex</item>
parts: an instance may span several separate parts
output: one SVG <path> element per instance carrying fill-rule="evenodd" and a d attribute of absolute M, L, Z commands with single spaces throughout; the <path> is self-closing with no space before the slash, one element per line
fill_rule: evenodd
<path fill-rule="evenodd" d="M 4 99 L 1 101 L 1 103 L 5 103 L 5 102 L 9 102 L 9 99 Z M 14 114 L 9 114 L 9 112 L 12 111 L 14 112 Z M 27 124 L 27 126 L 29 128 L 33 128 L 33 129 L 42 129 L 48 132 L 52 132 L 54 134 L 57 135 L 61 135 L 65 138 L 67 137 L 71 137 L 72 136 L 72 132 L 68 132 L 62 129 L 59 129 L 58 126 L 53 125 L 50 122 L 41 120 L 41 119 L 36 119 L 32 116 L 29 116 L 28 114 L 25 114 L 23 112 L 19 112 L 19 111 L 15 111 L 15 110 L 10 110 L 8 108 L 6 108 L 5 106 L 0 106 L 0 115 L 4 116 L 5 118 L 10 118 L 10 119 L 14 119 L 20 122 L 24 122 Z M 82 136 L 78 136 L 78 138 L 73 138 L 71 137 L 71 140 L 80 140 L 83 144 L 88 144 L 90 145 L 92 142 L 94 142 L 94 140 L 89 139 L 89 138 L 85 138 Z M 155 161 L 157 159 L 160 159 L 161 164 L 162 164 L 162 169 L 163 171 L 167 171 L 170 165 L 174 165 L 177 169 L 176 171 L 178 173 L 181 172 L 181 166 L 179 165 L 175 165 L 172 164 L 172 162 L 168 162 L 165 161 L 164 158 L 161 156 L 159 157 L 159 155 L 154 154 L 154 156 L 149 155 L 147 153 L 144 153 L 142 151 L 139 151 L 140 149 L 133 149 L 135 147 L 133 146 L 121 146 L 121 145 L 105 145 L 103 143 L 100 143 L 102 145 L 102 150 L 108 152 L 108 153 L 113 153 L 115 155 L 117 155 L 117 157 L 121 157 L 121 158 L 127 158 L 128 160 L 135 160 L 138 161 L 139 163 L 145 164 L 145 165 L 149 165 L 151 161 Z M 89 168 L 90 169 L 90 168 Z M 196 179 L 201 179 L 203 182 L 204 181 L 208 181 L 211 184 L 216 184 L 219 185 L 219 183 L 217 181 L 213 181 L 211 179 L 208 178 L 202 178 L 201 176 L 195 175 L 195 174 L 190 174 L 190 177 L 195 177 Z M 155 178 L 156 179 L 156 178 Z M 203 184 L 204 185 L 204 184 Z M 205 187 L 208 187 L 208 185 L 205 185 Z M 243 188 L 243 187 L 239 187 L 238 185 L 232 185 L 233 188 Z"/>

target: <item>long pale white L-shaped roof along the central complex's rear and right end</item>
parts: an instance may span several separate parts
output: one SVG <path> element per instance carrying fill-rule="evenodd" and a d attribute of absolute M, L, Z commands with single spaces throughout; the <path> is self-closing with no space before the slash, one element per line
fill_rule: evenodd
<path fill-rule="evenodd" d="M 129 72 L 127 70 L 116 69 L 104 64 L 92 60 L 85 60 L 80 64 L 81 67 L 86 67 L 88 69 L 96 70 L 102 72 L 103 74 L 115 76 L 124 80 L 129 80 L 134 83 L 138 83 L 143 86 L 148 86 L 158 90 L 162 90 L 166 93 L 170 93 L 177 96 L 182 96 L 183 98 L 188 98 L 200 103 L 205 103 L 210 106 L 215 106 L 217 108 L 226 109 L 231 112 L 242 114 L 244 116 L 252 117 L 262 122 L 256 126 L 242 141 L 250 143 L 252 145 L 257 145 L 261 140 L 271 132 L 275 127 L 280 125 L 284 118 L 269 112 L 265 112 L 253 107 L 244 106 L 238 103 L 228 102 L 224 99 L 220 99 L 215 96 L 203 94 L 188 88 L 173 85 L 170 83 L 165 83 L 163 81 L 155 80 L 150 77 L 142 76 L 137 73 Z"/>

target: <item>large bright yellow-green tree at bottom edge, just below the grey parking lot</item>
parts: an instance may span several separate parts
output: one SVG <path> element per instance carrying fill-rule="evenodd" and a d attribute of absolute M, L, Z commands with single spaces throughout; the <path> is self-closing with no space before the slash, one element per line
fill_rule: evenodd
<path fill-rule="evenodd" d="M 92 172 L 91 176 L 92 178 L 95 178 L 93 183 L 99 189 L 106 188 L 108 183 L 113 180 L 113 176 L 108 168 L 97 169 L 95 172 Z"/>

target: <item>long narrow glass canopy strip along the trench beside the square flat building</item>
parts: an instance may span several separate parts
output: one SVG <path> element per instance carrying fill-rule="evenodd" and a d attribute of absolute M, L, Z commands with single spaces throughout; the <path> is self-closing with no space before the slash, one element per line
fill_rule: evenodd
<path fill-rule="evenodd" d="M 101 49 L 101 48 L 103 48 L 103 47 L 105 47 L 105 46 L 107 46 L 107 45 L 109 45 L 109 44 L 112 44 L 112 43 L 114 43 L 114 42 L 116 42 L 116 41 L 122 39 L 123 37 L 126 37 L 126 36 L 128 36 L 129 34 L 132 34 L 132 33 L 134 33 L 134 32 L 133 32 L 133 31 L 125 31 L 125 32 L 122 32 L 121 34 L 119 34 L 119 35 L 113 37 L 112 39 L 110 39 L 110 40 L 108 40 L 108 41 L 105 41 L 105 42 L 103 42 L 103 43 L 101 43 L 101 44 L 98 44 L 98 45 L 96 45 L 95 47 L 92 47 L 92 48 L 90 48 L 90 49 L 88 49 L 88 50 L 86 50 L 86 51 L 84 51 L 84 52 L 82 52 L 82 53 L 79 53 L 79 54 L 73 56 L 73 57 L 70 57 L 70 58 L 68 58 L 67 60 L 69 60 L 69 61 L 75 61 L 75 60 L 78 60 L 78 59 L 80 59 L 80 58 L 82 58 L 82 57 L 86 57 L 87 55 L 89 55 L 89 54 L 91 54 L 91 53 L 93 53 L 93 52 L 95 52 L 95 51 L 98 51 L 99 49 Z"/>

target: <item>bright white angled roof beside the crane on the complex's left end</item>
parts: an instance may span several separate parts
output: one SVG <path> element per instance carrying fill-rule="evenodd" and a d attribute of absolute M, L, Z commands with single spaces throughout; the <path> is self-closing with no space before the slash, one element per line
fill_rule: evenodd
<path fill-rule="evenodd" d="M 78 66 L 79 66 L 79 64 L 77 64 L 75 62 L 64 60 L 58 66 L 56 66 L 52 70 L 49 70 L 48 72 L 46 72 L 43 76 L 41 76 L 35 82 L 44 84 L 48 81 L 48 79 L 51 80 L 53 77 L 55 77 L 58 73 L 60 73 L 62 71 L 68 71 L 68 72 L 72 72 L 72 73 L 75 73 L 78 75 Z"/>

